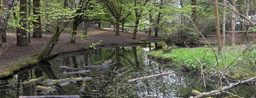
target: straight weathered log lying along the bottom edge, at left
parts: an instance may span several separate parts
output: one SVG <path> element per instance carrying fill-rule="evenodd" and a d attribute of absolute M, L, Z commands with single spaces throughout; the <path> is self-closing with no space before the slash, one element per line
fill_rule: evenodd
<path fill-rule="evenodd" d="M 19 98 L 80 98 L 79 95 L 20 96 Z"/>

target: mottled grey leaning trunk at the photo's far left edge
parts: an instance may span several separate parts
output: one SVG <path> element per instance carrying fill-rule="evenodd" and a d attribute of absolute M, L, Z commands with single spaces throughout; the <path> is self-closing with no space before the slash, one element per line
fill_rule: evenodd
<path fill-rule="evenodd" d="M 10 19 L 11 13 L 10 10 L 12 10 L 14 5 L 14 0 L 3 0 L 2 4 L 4 4 L 4 7 L 0 8 L 0 50 L 3 44 L 3 40 L 6 36 L 6 27 L 7 22 Z"/>

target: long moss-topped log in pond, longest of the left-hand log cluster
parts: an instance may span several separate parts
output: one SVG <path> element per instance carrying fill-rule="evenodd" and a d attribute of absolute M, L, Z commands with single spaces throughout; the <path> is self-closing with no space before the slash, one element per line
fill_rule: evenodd
<path fill-rule="evenodd" d="M 90 80 L 92 79 L 91 77 L 78 77 L 78 78 L 67 78 L 67 79 L 58 79 L 58 80 L 52 80 L 52 79 L 47 79 L 47 81 L 44 82 L 38 82 L 38 83 L 44 83 L 44 84 L 56 84 L 56 83 L 63 83 L 63 82 L 74 82 L 74 81 L 81 81 L 81 80 Z"/>

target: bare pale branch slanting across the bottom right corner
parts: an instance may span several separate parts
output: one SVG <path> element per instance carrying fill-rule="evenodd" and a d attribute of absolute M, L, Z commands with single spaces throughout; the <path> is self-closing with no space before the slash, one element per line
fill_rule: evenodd
<path fill-rule="evenodd" d="M 251 82 L 252 80 L 255 80 L 255 79 L 256 79 L 256 77 L 253 77 L 253 78 L 250 78 L 250 79 L 247 79 L 247 80 L 243 80 L 243 81 L 239 81 L 237 83 L 230 84 L 229 86 L 224 86 L 222 88 L 218 88 L 218 89 L 210 91 L 210 92 L 202 93 L 201 95 L 198 95 L 196 97 L 189 97 L 189 98 L 204 98 L 204 97 L 207 97 L 209 95 L 216 94 L 216 93 L 225 91 L 227 89 L 237 87 L 237 86 L 239 86 L 241 84 L 244 84 L 246 82 Z"/>

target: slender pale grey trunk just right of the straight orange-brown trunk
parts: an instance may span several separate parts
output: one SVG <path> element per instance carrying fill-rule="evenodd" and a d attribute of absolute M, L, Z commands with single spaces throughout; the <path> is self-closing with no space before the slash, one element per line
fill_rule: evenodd
<path fill-rule="evenodd" d="M 224 3 L 226 5 L 226 2 Z M 225 48 L 226 38 L 226 7 L 223 8 L 223 23 L 222 23 L 222 48 Z"/>

